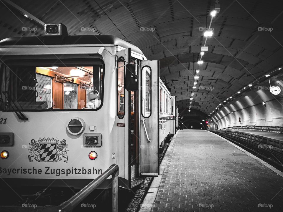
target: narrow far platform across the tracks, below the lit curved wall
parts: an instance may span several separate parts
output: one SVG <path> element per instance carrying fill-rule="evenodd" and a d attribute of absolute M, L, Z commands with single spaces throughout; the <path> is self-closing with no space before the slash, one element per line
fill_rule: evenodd
<path fill-rule="evenodd" d="M 261 141 L 263 143 L 283 148 L 283 134 L 277 132 L 266 132 L 261 130 L 217 130 L 231 135 L 238 135 L 244 138 Z"/>

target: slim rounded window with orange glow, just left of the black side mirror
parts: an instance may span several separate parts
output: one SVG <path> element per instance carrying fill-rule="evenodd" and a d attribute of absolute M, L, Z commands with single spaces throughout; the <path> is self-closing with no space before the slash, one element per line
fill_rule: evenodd
<path fill-rule="evenodd" d="M 117 100 L 118 100 L 118 117 L 123 118 L 125 114 L 125 97 L 124 97 L 124 58 L 118 59 L 118 74 L 117 74 L 117 83 L 118 83 L 118 89 L 117 89 Z"/>

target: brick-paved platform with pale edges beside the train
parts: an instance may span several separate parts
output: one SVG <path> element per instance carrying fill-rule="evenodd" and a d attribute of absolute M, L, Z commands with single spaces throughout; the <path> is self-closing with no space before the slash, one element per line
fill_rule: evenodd
<path fill-rule="evenodd" d="M 212 132 L 179 130 L 140 212 L 273 212 L 282 199 L 282 172 Z"/>

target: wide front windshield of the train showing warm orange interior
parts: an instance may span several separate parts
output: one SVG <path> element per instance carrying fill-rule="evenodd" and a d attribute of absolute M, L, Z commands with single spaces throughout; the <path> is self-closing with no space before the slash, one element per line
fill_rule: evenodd
<path fill-rule="evenodd" d="M 5 62 L 1 66 L 0 109 L 98 110 L 103 97 L 103 65 L 50 66 Z"/>

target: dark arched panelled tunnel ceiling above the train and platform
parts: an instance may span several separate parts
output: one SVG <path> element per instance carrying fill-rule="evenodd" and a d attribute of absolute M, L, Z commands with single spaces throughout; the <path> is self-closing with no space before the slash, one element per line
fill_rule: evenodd
<path fill-rule="evenodd" d="M 207 40 L 208 52 L 198 68 L 197 89 L 192 89 L 193 76 L 205 42 L 200 27 L 208 27 L 215 1 L 13 2 L 45 23 L 64 23 L 70 35 L 111 34 L 139 47 L 147 59 L 159 59 L 160 78 L 177 96 L 180 109 L 189 106 L 194 92 L 192 108 L 209 114 L 225 98 L 283 64 L 283 14 L 278 1 L 219 0 L 221 9 L 212 21 L 213 37 Z M 1 39 L 43 34 L 42 26 L 5 1 L 0 5 Z M 22 27 L 37 29 L 28 32 Z M 82 31 L 81 27 L 94 30 Z M 141 27 L 154 31 L 141 31 Z M 259 31 L 258 27 L 273 30 Z M 208 89 L 199 89 L 202 86 Z"/>

